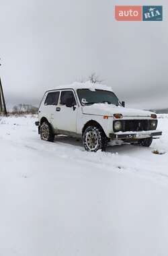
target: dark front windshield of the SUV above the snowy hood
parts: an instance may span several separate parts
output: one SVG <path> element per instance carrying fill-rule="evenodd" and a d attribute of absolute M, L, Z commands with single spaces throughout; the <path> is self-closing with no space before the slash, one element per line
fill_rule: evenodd
<path fill-rule="evenodd" d="M 82 105 L 91 105 L 95 103 L 108 103 L 121 106 L 120 101 L 114 92 L 105 90 L 78 89 L 77 94 Z"/>

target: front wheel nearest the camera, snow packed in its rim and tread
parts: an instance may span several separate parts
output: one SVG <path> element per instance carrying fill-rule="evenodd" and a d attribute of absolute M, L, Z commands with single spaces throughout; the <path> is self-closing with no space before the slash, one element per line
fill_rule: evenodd
<path fill-rule="evenodd" d="M 103 130 L 96 126 L 89 126 L 83 133 L 83 146 L 89 152 L 106 151 L 108 139 Z"/>

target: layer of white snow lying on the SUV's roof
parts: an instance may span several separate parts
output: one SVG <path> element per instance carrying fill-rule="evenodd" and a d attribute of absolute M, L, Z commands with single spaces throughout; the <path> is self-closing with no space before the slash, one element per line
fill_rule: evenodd
<path fill-rule="evenodd" d="M 104 86 L 103 84 L 92 84 L 91 82 L 85 82 L 85 83 L 74 82 L 73 84 L 69 84 L 69 85 L 57 86 L 56 88 L 54 88 L 52 90 L 62 90 L 62 89 L 73 89 L 73 90 L 89 89 L 91 91 L 93 91 L 93 90 L 104 90 L 104 91 L 113 92 L 111 87 Z"/>

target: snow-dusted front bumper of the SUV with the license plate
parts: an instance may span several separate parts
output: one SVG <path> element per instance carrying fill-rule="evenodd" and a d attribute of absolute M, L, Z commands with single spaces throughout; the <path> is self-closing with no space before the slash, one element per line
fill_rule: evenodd
<path fill-rule="evenodd" d="M 162 131 L 119 131 L 118 133 L 111 133 L 111 139 L 145 139 L 147 137 L 159 137 Z"/>

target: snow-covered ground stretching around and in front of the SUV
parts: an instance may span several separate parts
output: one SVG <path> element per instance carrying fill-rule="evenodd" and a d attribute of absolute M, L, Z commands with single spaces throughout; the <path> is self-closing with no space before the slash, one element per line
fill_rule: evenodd
<path fill-rule="evenodd" d="M 89 153 L 0 117 L 1 256 L 167 256 L 168 115 L 151 148 Z M 153 154 L 153 150 L 167 152 Z"/>

